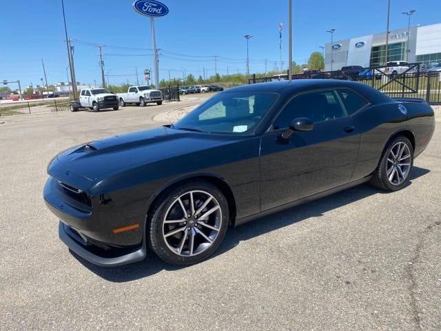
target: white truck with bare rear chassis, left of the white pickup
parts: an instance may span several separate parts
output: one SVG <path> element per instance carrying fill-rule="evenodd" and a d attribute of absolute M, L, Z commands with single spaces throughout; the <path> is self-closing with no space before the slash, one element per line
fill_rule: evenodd
<path fill-rule="evenodd" d="M 101 109 L 106 108 L 119 109 L 116 94 L 110 93 L 105 88 L 86 88 L 81 90 L 79 102 L 81 108 L 90 108 L 94 112 L 99 112 Z"/>

